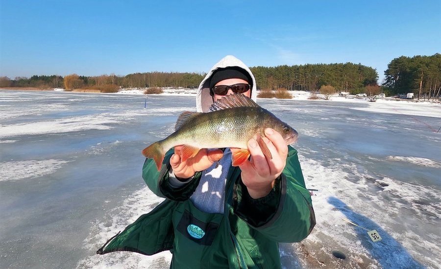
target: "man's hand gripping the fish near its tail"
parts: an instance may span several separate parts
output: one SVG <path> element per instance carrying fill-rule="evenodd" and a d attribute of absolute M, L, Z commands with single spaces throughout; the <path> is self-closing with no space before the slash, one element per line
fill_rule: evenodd
<path fill-rule="evenodd" d="M 174 154 L 170 158 L 173 173 L 178 179 L 192 177 L 196 172 L 203 171 L 212 166 L 214 162 L 219 161 L 223 156 L 223 152 L 220 149 L 208 150 L 207 148 L 202 148 L 195 157 L 181 162 L 181 148 L 182 146 L 174 147 Z"/>

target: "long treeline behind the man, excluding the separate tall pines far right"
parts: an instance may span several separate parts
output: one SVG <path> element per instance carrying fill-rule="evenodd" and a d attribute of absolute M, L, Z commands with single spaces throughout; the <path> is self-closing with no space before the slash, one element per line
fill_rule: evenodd
<path fill-rule="evenodd" d="M 322 85 L 331 85 L 339 91 L 361 90 L 364 86 L 377 85 L 375 69 L 361 64 L 307 64 L 278 67 L 251 67 L 259 89 L 315 91 Z M 121 88 L 147 87 L 198 87 L 205 73 L 133 73 L 126 76 L 115 74 L 81 76 L 76 74 L 33 75 L 30 78 L 0 78 L 0 87 L 37 87 L 78 89 L 101 85 L 118 85 Z M 69 79 L 66 84 L 66 78 Z"/>

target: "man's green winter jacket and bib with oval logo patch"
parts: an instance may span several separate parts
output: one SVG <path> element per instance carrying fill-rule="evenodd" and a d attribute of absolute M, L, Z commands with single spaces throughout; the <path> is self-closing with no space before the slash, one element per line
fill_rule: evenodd
<path fill-rule="evenodd" d="M 171 268 L 280 268 L 278 242 L 299 242 L 315 225 L 311 196 L 305 188 L 297 151 L 289 146 L 286 167 L 270 194 L 253 199 L 238 167 L 230 167 L 223 214 L 199 211 L 189 197 L 201 173 L 181 188 L 168 182 L 169 150 L 161 171 L 147 159 L 143 178 L 166 199 L 111 238 L 98 254 L 133 251 L 152 255 L 172 252 Z M 107 245 L 108 244 L 108 245 Z"/>

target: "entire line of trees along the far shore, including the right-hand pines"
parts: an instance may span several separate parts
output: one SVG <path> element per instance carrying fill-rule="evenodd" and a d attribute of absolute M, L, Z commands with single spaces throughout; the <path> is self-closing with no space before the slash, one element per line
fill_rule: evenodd
<path fill-rule="evenodd" d="M 401 56 L 388 65 L 385 72 L 386 82 L 382 91 L 388 96 L 398 93 L 427 91 L 433 94 L 441 86 L 440 54 L 432 56 Z M 332 86 L 336 91 L 360 93 L 367 86 L 378 85 L 375 69 L 353 63 L 305 64 L 277 67 L 251 67 L 256 77 L 257 88 L 263 90 L 302 90 L 317 91 L 323 85 Z M 70 74 L 33 75 L 30 78 L 0 77 L 0 87 L 37 87 L 37 88 L 147 88 L 147 87 L 197 87 L 205 73 L 132 73 L 125 76 L 115 74 L 100 76 L 81 76 Z M 66 79 L 68 78 L 68 79 Z"/>

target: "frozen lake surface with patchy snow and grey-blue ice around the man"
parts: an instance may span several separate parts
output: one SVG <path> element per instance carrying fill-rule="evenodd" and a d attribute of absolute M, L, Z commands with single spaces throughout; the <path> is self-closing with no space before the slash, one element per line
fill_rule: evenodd
<path fill-rule="evenodd" d="M 144 109 L 143 95 L 0 91 L 0 268 L 168 268 L 169 252 L 95 251 L 162 200 L 141 150 L 195 99 L 149 96 Z M 319 190 L 313 233 L 281 245 L 285 268 L 440 268 L 441 105 L 258 103 L 298 131 L 307 188 Z"/>

